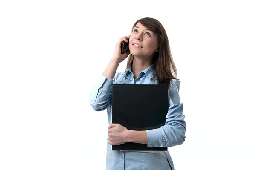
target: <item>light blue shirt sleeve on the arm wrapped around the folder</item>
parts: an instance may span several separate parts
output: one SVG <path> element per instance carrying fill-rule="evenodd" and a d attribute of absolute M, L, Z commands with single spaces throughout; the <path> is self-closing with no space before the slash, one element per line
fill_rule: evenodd
<path fill-rule="evenodd" d="M 183 115 L 183 103 L 180 103 L 180 81 L 172 79 L 169 87 L 169 108 L 164 126 L 146 130 L 148 147 L 172 147 L 185 141 L 186 122 Z"/>

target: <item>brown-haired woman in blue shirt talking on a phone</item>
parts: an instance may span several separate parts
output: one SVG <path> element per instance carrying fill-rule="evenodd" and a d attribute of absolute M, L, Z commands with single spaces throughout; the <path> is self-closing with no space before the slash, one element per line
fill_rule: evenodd
<path fill-rule="evenodd" d="M 121 54 L 121 42 L 128 42 L 126 38 L 129 38 L 130 51 Z M 116 72 L 119 63 L 127 57 L 126 71 Z M 179 98 L 180 82 L 176 75 L 169 40 L 162 24 L 153 18 L 137 20 L 131 35 L 119 39 L 113 57 L 90 93 L 92 108 L 108 111 L 107 170 L 174 170 L 168 151 L 112 151 L 111 145 L 135 142 L 147 144 L 148 147 L 172 147 L 185 141 L 186 123 L 182 113 L 183 103 Z M 120 124 L 111 124 L 112 84 L 169 84 L 166 124 L 144 131 L 127 130 Z"/>

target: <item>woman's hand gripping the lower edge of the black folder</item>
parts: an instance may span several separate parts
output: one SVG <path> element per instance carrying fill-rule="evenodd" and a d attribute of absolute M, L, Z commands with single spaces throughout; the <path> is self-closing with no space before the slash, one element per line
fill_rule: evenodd
<path fill-rule="evenodd" d="M 108 144 L 119 145 L 127 142 L 129 130 L 120 124 L 110 124 L 108 127 Z"/>

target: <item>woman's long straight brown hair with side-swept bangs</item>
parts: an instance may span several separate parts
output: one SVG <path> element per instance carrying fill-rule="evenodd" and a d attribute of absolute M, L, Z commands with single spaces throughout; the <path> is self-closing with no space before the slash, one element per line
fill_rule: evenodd
<path fill-rule="evenodd" d="M 154 64 L 153 68 L 156 70 L 158 84 L 169 84 L 171 79 L 177 79 L 177 69 L 172 59 L 169 40 L 165 29 L 158 20 L 145 17 L 137 20 L 134 23 L 131 32 L 137 23 L 141 23 L 143 26 L 157 34 L 159 51 L 155 52 L 152 58 L 152 62 Z M 126 64 L 126 71 L 128 70 L 129 66 L 131 66 L 133 58 L 134 55 L 130 53 Z"/>

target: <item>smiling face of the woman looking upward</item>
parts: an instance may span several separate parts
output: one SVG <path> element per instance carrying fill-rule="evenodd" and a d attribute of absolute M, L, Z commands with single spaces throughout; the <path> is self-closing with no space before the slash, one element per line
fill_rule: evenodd
<path fill-rule="evenodd" d="M 136 57 L 151 58 L 157 52 L 157 35 L 137 23 L 129 39 L 129 49 Z"/>

